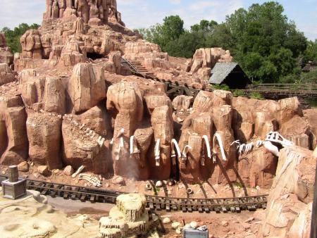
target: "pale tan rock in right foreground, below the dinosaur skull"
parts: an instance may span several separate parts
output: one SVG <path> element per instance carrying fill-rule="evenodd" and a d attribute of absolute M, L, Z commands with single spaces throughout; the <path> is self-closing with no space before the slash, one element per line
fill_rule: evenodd
<path fill-rule="evenodd" d="M 316 159 L 302 147 L 280 151 L 263 237 L 309 237 Z"/>

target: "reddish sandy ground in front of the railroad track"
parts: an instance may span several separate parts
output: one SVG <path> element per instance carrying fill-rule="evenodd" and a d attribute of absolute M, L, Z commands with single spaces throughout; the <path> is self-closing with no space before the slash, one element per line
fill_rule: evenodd
<path fill-rule="evenodd" d="M 82 203 L 80 201 L 64 200 L 63 198 L 51 198 L 48 196 L 49 204 L 57 210 L 63 211 L 68 216 L 77 214 L 87 214 L 91 218 L 99 220 L 102 216 L 108 215 L 108 211 L 113 204 L 107 203 Z M 196 221 L 199 225 L 207 225 L 209 227 L 209 237 L 235 237 L 235 238 L 255 238 L 261 232 L 261 217 L 265 211 L 242 211 L 242 213 L 166 213 L 158 212 L 161 218 L 170 218 L 171 223 L 164 225 L 166 234 L 160 233 L 161 237 L 182 237 L 172 229 L 173 222 L 183 224 Z M 250 219 L 251 218 L 251 219 Z M 248 221 L 250 220 L 250 221 Z"/>

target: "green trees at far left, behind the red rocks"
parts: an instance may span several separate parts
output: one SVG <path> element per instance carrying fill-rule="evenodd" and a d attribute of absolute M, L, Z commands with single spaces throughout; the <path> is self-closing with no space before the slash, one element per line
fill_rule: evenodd
<path fill-rule="evenodd" d="M 4 32 L 4 35 L 6 35 L 6 43 L 11 48 L 13 54 L 15 52 L 21 52 L 22 47 L 20 44 L 20 37 L 30 29 L 37 29 L 39 28 L 39 25 L 34 23 L 32 25 L 27 25 L 26 23 L 21 23 L 18 25 L 18 27 L 15 27 L 13 30 L 11 30 L 8 27 L 4 27 L 1 32 Z"/>

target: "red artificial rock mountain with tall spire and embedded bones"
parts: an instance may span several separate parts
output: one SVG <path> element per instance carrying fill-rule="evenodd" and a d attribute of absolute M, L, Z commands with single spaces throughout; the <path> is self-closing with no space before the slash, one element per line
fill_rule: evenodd
<path fill-rule="evenodd" d="M 168 56 L 125 27 L 116 1 L 48 0 L 46 6 L 42 26 L 25 32 L 23 52 L 14 61 L 0 35 L 1 165 L 31 160 L 49 170 L 85 165 L 92 173 L 138 180 L 273 185 L 274 194 L 288 194 L 291 200 L 284 200 L 290 204 L 299 200 L 298 208 L 311 202 L 303 191 L 311 192 L 314 171 L 308 178 L 302 171 L 316 159 L 311 155 L 316 110 L 303 110 L 297 98 L 261 101 L 222 90 L 171 100 L 164 84 L 131 75 L 121 58 L 139 61 L 162 80 L 204 89 L 210 87 L 206 80 L 213 65 L 233 60 L 230 52 L 213 48 L 198 49 L 192 59 Z M 255 145 L 272 131 L 296 146 L 277 156 L 264 146 L 240 154 L 234 143 Z M 212 145 L 215 134 L 224 150 L 216 143 L 213 161 L 206 142 Z M 294 157 L 298 163 L 285 172 L 284 161 Z M 287 179 L 297 183 L 280 192 Z M 271 198 L 270 204 L 279 206 Z M 283 227 L 269 221 L 283 215 L 282 210 L 268 213 L 263 234 L 287 234 L 294 224 L 296 230 L 292 217 Z"/>

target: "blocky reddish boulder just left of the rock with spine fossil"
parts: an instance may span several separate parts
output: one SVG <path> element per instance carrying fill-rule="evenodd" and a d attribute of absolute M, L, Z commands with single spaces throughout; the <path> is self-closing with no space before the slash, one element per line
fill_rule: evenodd
<path fill-rule="evenodd" d="M 30 114 L 27 118 L 29 155 L 36 165 L 47 165 L 49 170 L 63 167 L 61 160 L 61 119 Z"/>

